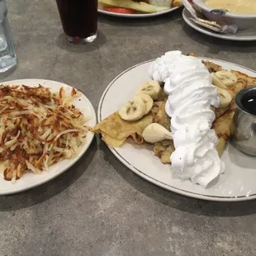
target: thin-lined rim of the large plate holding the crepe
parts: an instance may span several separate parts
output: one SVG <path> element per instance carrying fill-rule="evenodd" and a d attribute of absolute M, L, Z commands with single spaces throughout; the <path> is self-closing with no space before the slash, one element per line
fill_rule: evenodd
<path fill-rule="evenodd" d="M 210 60 L 210 61 L 220 61 L 220 62 L 223 62 L 223 63 L 226 63 L 226 64 L 233 64 L 233 65 L 235 65 L 235 66 L 237 66 L 239 68 L 247 69 L 247 70 L 249 70 L 251 72 L 256 73 L 254 69 L 249 69 L 249 68 L 246 68 L 246 67 L 244 67 L 242 65 L 234 64 L 234 63 L 231 63 L 229 61 L 225 61 L 225 60 L 221 60 L 221 59 L 211 59 L 211 58 L 202 58 L 202 57 L 198 57 L 198 59 L 206 59 L 206 60 Z M 135 69 L 136 67 L 138 67 L 138 66 L 140 66 L 142 64 L 150 63 L 152 61 L 154 61 L 154 59 L 149 59 L 149 60 L 146 60 L 144 62 L 141 62 L 140 64 L 135 64 L 134 66 L 132 66 L 132 67 L 126 69 L 125 71 L 123 71 L 122 73 L 120 73 L 118 76 L 116 76 L 116 78 L 114 78 L 111 81 L 111 83 L 109 83 L 109 85 L 107 86 L 105 91 L 102 93 L 102 97 L 100 99 L 100 102 L 99 102 L 99 105 L 98 105 L 98 108 L 97 108 L 97 119 L 98 119 L 99 122 L 102 121 L 102 104 L 103 104 L 104 99 L 105 99 L 105 97 L 107 95 L 107 92 L 109 91 L 109 89 L 111 88 L 113 83 L 115 83 L 118 78 L 120 78 L 124 73 L 127 73 L 131 69 Z M 168 185 L 166 183 L 159 182 L 159 180 L 157 180 L 155 178 L 152 178 L 148 174 L 143 173 L 140 169 L 135 168 L 135 166 L 130 164 L 126 159 L 124 159 L 121 156 L 121 154 L 119 154 L 116 151 L 115 148 L 111 148 L 109 146 L 107 146 L 107 147 L 116 156 L 116 158 L 119 159 L 122 164 L 126 165 L 127 168 L 130 168 L 131 171 L 133 171 L 134 173 L 138 174 L 141 178 L 145 178 L 150 183 L 154 183 L 155 185 L 157 185 L 159 187 L 163 187 L 163 188 L 167 189 L 168 191 L 175 192 L 175 193 L 181 194 L 181 195 L 186 196 L 186 197 L 192 197 L 192 198 L 202 199 L 202 200 L 206 200 L 206 201 L 249 201 L 249 200 L 256 199 L 256 193 L 252 194 L 252 195 L 249 195 L 249 196 L 217 197 L 217 196 L 209 196 L 209 195 L 205 195 L 205 194 L 200 194 L 200 193 L 196 193 L 196 192 L 190 192 L 190 191 L 187 191 L 187 190 L 184 190 L 184 189 L 181 189 L 181 188 L 170 186 L 170 185 Z"/>

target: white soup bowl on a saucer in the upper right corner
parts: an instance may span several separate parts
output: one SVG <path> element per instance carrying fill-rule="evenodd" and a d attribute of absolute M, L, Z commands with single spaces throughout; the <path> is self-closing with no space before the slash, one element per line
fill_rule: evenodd
<path fill-rule="evenodd" d="M 220 16 L 211 13 L 211 10 L 215 8 L 209 7 L 205 4 L 206 0 L 193 0 L 193 4 L 201 13 L 210 21 L 217 21 L 218 23 L 224 22 L 225 24 L 235 24 L 239 30 L 247 29 L 256 25 L 256 13 L 255 14 L 238 14 L 232 12 L 226 12 Z"/>

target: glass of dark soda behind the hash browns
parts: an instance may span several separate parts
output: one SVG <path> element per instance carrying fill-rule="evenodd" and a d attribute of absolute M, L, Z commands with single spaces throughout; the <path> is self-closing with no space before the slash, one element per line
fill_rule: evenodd
<path fill-rule="evenodd" d="M 90 43 L 97 38 L 97 0 L 56 0 L 66 40 Z"/>

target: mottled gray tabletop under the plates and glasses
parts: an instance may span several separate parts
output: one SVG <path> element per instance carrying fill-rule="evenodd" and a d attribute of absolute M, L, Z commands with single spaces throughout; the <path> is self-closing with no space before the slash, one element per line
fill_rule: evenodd
<path fill-rule="evenodd" d="M 99 16 L 92 45 L 64 42 L 54 0 L 8 0 L 19 64 L 3 80 L 46 78 L 83 89 L 97 109 L 112 78 L 168 50 L 256 69 L 256 41 L 201 35 L 181 11 L 129 20 Z M 69 171 L 0 197 L 0 255 L 256 255 L 256 203 L 199 201 L 165 191 L 95 139 Z"/>

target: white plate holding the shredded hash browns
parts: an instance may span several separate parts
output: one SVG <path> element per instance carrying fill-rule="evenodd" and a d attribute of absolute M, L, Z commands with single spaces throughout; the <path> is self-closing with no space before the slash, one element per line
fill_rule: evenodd
<path fill-rule="evenodd" d="M 58 92 L 59 88 L 61 87 L 64 87 L 66 92 L 71 92 L 72 89 L 67 84 L 43 79 L 13 80 L 4 82 L 3 84 L 26 84 L 31 87 L 36 87 L 39 83 L 46 88 L 50 88 L 51 92 Z M 74 99 L 73 105 L 75 107 L 78 107 L 84 115 L 91 117 L 91 119 L 87 122 L 88 126 L 95 126 L 97 122 L 96 114 L 92 107 L 92 103 L 88 100 L 87 97 L 82 95 L 81 97 Z M 25 191 L 27 189 L 30 189 L 31 187 L 36 187 L 43 183 L 47 183 L 51 179 L 57 177 L 59 174 L 64 173 L 64 171 L 68 170 L 73 164 L 75 164 L 78 161 L 78 159 L 80 159 L 83 156 L 83 154 L 88 149 L 89 145 L 91 145 L 93 136 L 94 135 L 92 134 L 92 132 L 88 132 L 86 141 L 83 145 L 83 149 L 81 150 L 80 154 L 78 154 L 78 156 L 74 159 L 64 159 L 59 163 L 51 166 L 49 168 L 49 172 L 43 172 L 37 175 L 33 173 L 26 173 L 20 179 L 18 179 L 16 183 L 7 182 L 6 180 L 3 179 L 3 173 L 1 173 L 0 195 L 7 195 Z"/>

